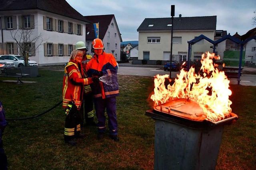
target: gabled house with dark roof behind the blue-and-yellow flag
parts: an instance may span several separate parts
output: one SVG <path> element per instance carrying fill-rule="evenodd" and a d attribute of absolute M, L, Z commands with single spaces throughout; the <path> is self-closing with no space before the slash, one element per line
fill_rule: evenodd
<path fill-rule="evenodd" d="M 116 61 L 120 61 L 120 43 L 122 42 L 121 33 L 114 14 L 84 16 L 90 23 L 86 24 L 86 48 L 88 54 L 92 55 L 91 45 L 96 38 L 94 23 L 98 23 L 99 39 L 102 40 L 106 53 L 112 53 Z"/>

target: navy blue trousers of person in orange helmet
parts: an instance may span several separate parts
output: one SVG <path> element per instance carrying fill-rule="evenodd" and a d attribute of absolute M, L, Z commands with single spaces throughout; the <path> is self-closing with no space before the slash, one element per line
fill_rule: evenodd
<path fill-rule="evenodd" d="M 94 107 L 98 119 L 98 132 L 106 131 L 105 109 L 108 115 L 108 128 L 110 135 L 117 135 L 117 117 L 116 117 L 116 97 L 94 98 Z"/>

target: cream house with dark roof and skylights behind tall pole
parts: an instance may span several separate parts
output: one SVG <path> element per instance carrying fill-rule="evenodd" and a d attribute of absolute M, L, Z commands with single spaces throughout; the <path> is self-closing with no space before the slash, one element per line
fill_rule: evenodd
<path fill-rule="evenodd" d="M 187 60 L 188 41 L 200 35 L 213 40 L 216 22 L 217 16 L 182 17 L 180 14 L 179 17 L 174 18 L 173 25 L 171 18 L 145 18 L 137 29 L 138 60 L 140 60 L 138 64 L 142 63 L 142 60 L 144 63 L 147 61 L 147 64 L 170 60 L 172 29 L 172 60 L 182 63 Z M 212 45 L 204 40 L 192 45 L 191 58 L 201 58 L 206 51 L 212 53 L 213 49 L 210 46 Z"/>

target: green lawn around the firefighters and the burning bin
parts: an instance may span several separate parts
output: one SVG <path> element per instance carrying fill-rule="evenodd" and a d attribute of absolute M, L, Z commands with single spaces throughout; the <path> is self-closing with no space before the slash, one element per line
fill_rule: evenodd
<path fill-rule="evenodd" d="M 39 70 L 38 77 L 21 80 L 36 83 L 0 82 L 0 100 L 7 119 L 38 115 L 62 100 L 63 72 Z M 65 144 L 64 109 L 58 106 L 34 119 L 9 121 L 3 136 L 8 168 L 153 169 L 154 120 L 144 115 L 152 108 L 148 97 L 153 92 L 153 78 L 118 75 L 118 80 L 120 142 L 109 137 L 98 141 L 96 127 L 84 127 L 86 138 L 79 139 L 80 145 Z M 230 89 L 232 112 L 239 119 L 224 128 L 216 169 L 256 169 L 256 87 L 230 85 Z"/>

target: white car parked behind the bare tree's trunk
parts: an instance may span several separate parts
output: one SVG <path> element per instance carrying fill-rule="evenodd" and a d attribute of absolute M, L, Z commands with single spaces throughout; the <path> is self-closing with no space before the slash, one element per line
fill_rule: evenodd
<path fill-rule="evenodd" d="M 16 67 L 24 66 L 24 58 L 20 55 L 0 55 L 0 58 L 5 59 L 7 61 L 12 61 Z M 28 59 L 28 64 L 30 66 L 38 66 L 36 61 L 32 61 Z"/>

